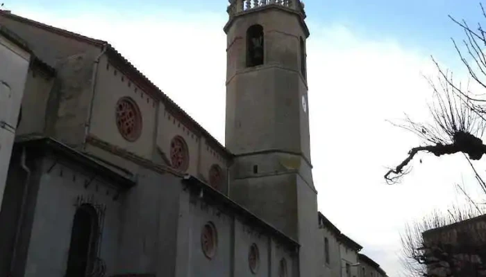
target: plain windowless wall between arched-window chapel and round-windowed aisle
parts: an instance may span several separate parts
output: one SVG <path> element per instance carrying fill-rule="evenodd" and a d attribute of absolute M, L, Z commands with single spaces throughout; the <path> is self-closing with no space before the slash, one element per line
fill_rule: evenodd
<path fill-rule="evenodd" d="M 116 274 L 174 276 L 181 179 L 141 169 L 123 196 Z"/>

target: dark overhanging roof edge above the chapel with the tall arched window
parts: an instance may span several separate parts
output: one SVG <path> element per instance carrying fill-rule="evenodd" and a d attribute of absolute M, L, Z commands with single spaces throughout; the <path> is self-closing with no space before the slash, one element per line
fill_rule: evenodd
<path fill-rule="evenodd" d="M 119 188 L 128 189 L 135 186 L 135 181 L 128 178 L 133 177 L 130 172 L 126 171 L 128 177 L 120 175 L 107 166 L 104 166 L 99 161 L 47 136 L 17 136 L 15 138 L 14 148 L 28 148 L 28 150 L 36 152 L 37 154 L 51 153 L 55 154 L 56 157 L 75 161 L 82 164 L 83 167 L 96 172 L 97 176 L 110 180 L 112 184 L 119 186 Z"/>

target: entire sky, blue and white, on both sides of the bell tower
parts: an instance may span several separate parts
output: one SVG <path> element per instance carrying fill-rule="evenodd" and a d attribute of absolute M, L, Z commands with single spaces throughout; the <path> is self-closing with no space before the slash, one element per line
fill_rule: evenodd
<path fill-rule="evenodd" d="M 110 42 L 224 144 L 226 35 L 224 0 L 7 1 L 13 13 Z M 430 120 L 437 75 L 433 55 L 464 68 L 449 19 L 482 20 L 479 1 L 308 0 L 311 159 L 319 211 L 360 243 L 389 276 L 402 276 L 405 223 L 462 203 L 456 184 L 480 197 L 460 154 L 420 154 L 400 184 L 383 175 L 421 141 L 394 127 L 404 113 Z"/>

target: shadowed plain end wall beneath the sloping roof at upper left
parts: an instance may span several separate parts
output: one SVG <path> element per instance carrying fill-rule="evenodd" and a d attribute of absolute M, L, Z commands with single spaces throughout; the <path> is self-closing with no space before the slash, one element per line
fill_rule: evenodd
<path fill-rule="evenodd" d="M 67 145 L 78 147 L 84 139 L 94 60 L 101 47 L 5 12 L 0 13 L 0 24 L 22 37 L 40 60 L 56 69 L 55 89 L 47 101 L 46 132 Z"/>

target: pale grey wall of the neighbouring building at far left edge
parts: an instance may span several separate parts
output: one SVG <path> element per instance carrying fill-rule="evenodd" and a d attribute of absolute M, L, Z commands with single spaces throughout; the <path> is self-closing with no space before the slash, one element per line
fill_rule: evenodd
<path fill-rule="evenodd" d="M 0 205 L 30 59 L 30 53 L 0 35 Z"/>

